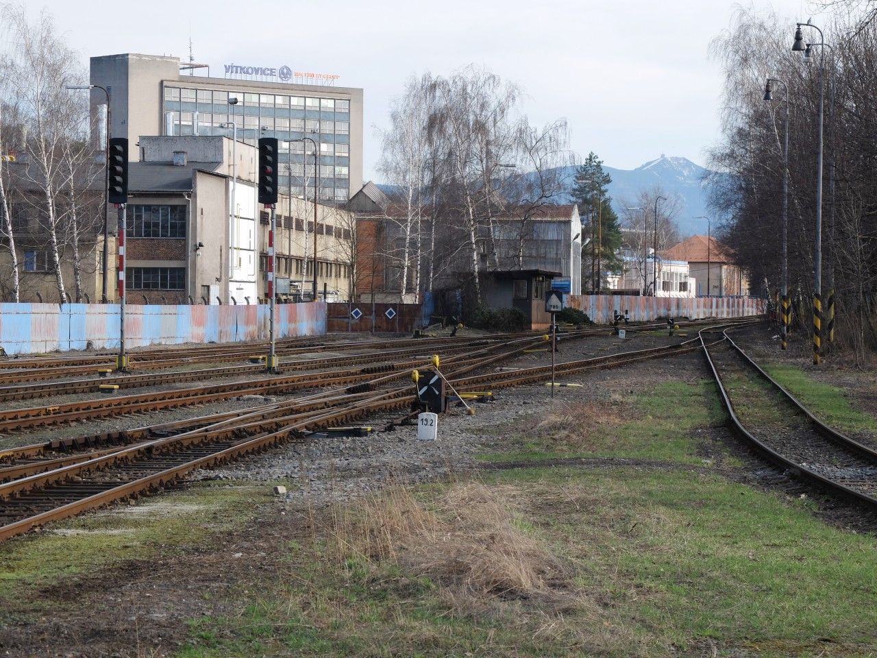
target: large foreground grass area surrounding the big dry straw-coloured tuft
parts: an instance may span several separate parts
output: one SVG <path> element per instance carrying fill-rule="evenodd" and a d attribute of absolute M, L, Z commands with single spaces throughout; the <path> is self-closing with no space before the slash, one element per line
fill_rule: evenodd
<path fill-rule="evenodd" d="M 241 597 L 237 615 L 191 620 L 178 658 L 877 652 L 877 539 L 825 526 L 808 500 L 719 476 L 632 468 L 519 469 L 484 484 L 514 510 L 520 536 L 563 565 L 564 596 L 580 604 L 558 613 L 558 601 L 546 607 L 538 590 L 474 592 L 395 553 L 356 547 L 339 559 L 337 538 L 323 531 L 290 545 L 275 586 Z M 460 486 L 419 489 L 421 508 L 411 513 Z M 441 513 L 465 518 L 473 507 L 461 498 Z M 360 501 L 345 513 L 371 512 Z M 373 529 L 386 532 L 393 551 L 417 555 L 417 542 L 394 527 Z M 445 531 L 427 557 L 446 565 Z"/>

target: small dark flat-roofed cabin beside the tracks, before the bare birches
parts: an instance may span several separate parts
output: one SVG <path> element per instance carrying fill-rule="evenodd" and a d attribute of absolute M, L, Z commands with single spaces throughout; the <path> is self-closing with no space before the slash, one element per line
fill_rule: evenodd
<path fill-rule="evenodd" d="M 545 312 L 545 294 L 560 272 L 545 269 L 514 269 L 481 275 L 481 295 L 492 309 L 520 309 L 527 322 L 524 328 L 548 329 L 551 313 Z"/>

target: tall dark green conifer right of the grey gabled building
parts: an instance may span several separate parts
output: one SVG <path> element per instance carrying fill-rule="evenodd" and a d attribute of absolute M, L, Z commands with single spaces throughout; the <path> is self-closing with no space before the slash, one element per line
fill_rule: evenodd
<path fill-rule="evenodd" d="M 585 290 L 602 290 L 606 275 L 619 272 L 622 266 L 619 258 L 621 227 L 612 210 L 610 182 L 612 177 L 603 171 L 602 160 L 592 151 L 575 172 L 570 191 L 581 215 L 581 241 L 591 239 L 588 245 L 581 247 L 581 278 Z M 599 285 L 596 282 L 598 263 L 602 280 Z"/>

